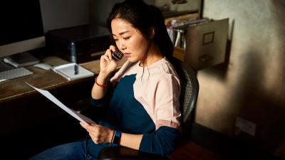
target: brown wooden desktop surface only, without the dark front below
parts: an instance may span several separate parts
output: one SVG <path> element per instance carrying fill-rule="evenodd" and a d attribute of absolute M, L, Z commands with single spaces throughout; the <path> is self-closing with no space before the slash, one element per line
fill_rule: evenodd
<path fill-rule="evenodd" d="M 43 61 L 51 65 L 62 65 L 68 63 L 66 60 L 57 57 L 48 57 Z M 125 60 L 120 62 L 119 68 L 124 62 Z M 100 71 L 100 60 L 93 60 L 80 65 L 95 73 L 95 75 L 97 75 Z M 29 96 L 36 93 L 36 90 L 33 90 L 31 87 L 26 85 L 26 82 L 43 90 L 52 90 L 56 87 L 62 87 L 63 85 L 73 85 L 78 82 L 80 83 L 88 79 L 93 79 L 84 78 L 81 80 L 68 81 L 61 75 L 54 73 L 53 70 L 41 70 L 38 68 L 33 68 L 32 66 L 27 67 L 27 69 L 31 70 L 31 72 L 34 74 L 0 82 L 0 105 L 3 102 L 16 100 L 19 97 Z"/>

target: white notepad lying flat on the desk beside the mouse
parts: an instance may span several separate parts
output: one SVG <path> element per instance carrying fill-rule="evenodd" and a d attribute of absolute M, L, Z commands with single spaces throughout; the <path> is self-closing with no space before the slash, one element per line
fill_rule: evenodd
<path fill-rule="evenodd" d="M 58 65 L 53 67 L 52 70 L 67 80 L 78 80 L 81 78 L 88 78 L 94 75 L 90 70 L 83 68 L 76 63 L 68 63 L 65 65 Z"/>

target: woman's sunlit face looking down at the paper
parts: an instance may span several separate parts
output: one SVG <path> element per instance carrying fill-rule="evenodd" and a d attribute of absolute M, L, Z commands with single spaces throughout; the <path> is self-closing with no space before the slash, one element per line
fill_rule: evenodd
<path fill-rule="evenodd" d="M 147 52 L 147 39 L 140 31 L 128 22 L 120 18 L 114 18 L 111 22 L 112 34 L 117 47 L 130 62 L 142 60 Z"/>

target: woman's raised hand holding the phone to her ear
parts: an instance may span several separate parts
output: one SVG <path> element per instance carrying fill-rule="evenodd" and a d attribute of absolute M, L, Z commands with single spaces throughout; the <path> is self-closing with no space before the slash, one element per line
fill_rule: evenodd
<path fill-rule="evenodd" d="M 117 68 L 119 61 L 113 60 L 112 58 L 113 51 L 115 51 L 115 46 L 110 46 L 110 48 L 106 50 L 105 54 L 101 55 L 100 73 L 109 75 Z"/>

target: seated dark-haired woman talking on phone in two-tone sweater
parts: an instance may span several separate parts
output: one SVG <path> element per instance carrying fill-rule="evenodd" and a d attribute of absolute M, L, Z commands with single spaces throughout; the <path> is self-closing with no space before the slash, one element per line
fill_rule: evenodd
<path fill-rule="evenodd" d="M 115 4 L 107 24 L 113 46 L 100 58 L 91 92 L 93 105 L 104 107 L 106 115 L 98 124 L 81 123 L 90 139 L 53 147 L 32 159 L 96 159 L 104 147 L 118 145 L 160 155 L 175 149 L 180 81 L 168 61 L 173 46 L 160 10 L 126 0 Z M 115 50 L 127 61 L 110 78 L 119 63 L 112 58 Z"/>

